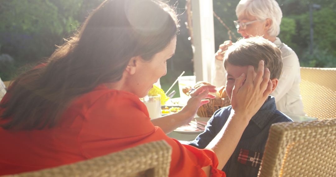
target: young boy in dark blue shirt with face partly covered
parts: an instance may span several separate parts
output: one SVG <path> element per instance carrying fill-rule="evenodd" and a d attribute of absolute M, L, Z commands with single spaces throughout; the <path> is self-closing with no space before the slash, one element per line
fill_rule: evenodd
<path fill-rule="evenodd" d="M 257 70 L 260 60 L 270 71 L 273 83 L 272 91 L 277 87 L 282 69 L 281 51 L 277 46 L 262 37 L 240 39 L 228 47 L 224 55 L 226 70 L 226 93 L 229 98 L 237 79 L 242 73 L 247 74 L 248 65 Z M 222 129 L 232 110 L 231 106 L 217 110 L 208 121 L 205 131 L 190 143 L 204 149 Z M 264 152 L 268 130 L 273 123 L 292 121 L 277 110 L 275 98 L 269 96 L 259 111 L 252 117 L 246 127 L 234 153 L 222 169 L 230 177 L 256 177 Z"/>

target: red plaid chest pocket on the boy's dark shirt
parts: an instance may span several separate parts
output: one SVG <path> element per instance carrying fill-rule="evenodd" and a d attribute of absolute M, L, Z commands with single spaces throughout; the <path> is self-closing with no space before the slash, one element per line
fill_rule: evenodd
<path fill-rule="evenodd" d="M 247 166 L 259 168 L 261 164 L 262 153 L 246 149 L 240 149 L 238 162 Z"/>

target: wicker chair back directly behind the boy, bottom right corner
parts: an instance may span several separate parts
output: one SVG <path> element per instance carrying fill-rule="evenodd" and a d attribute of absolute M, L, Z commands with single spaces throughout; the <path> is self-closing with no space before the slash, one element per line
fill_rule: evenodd
<path fill-rule="evenodd" d="M 271 125 L 258 177 L 336 176 L 336 119 Z"/>

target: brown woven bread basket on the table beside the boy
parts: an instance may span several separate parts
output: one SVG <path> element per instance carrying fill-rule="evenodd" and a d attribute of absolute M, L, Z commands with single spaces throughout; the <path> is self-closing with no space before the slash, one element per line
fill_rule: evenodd
<path fill-rule="evenodd" d="M 207 104 L 202 105 L 197 110 L 197 115 L 200 117 L 211 117 L 215 111 L 219 108 L 230 106 L 231 101 L 228 97 L 221 98 L 221 99 L 210 99 L 210 102 Z"/>

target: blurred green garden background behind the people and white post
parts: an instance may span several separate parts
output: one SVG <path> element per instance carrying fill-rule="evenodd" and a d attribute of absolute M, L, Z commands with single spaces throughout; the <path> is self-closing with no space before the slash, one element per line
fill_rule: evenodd
<path fill-rule="evenodd" d="M 0 77 L 11 80 L 49 57 L 103 0 L 1 0 Z M 291 47 L 305 67 L 336 67 L 336 0 L 277 0 L 282 12 L 280 39 Z M 234 27 L 238 0 L 213 0 L 215 48 L 240 37 Z M 180 18 L 176 54 L 167 63 L 161 85 L 167 91 L 174 80 L 193 75 L 193 52 L 186 28 L 186 0 L 170 0 Z M 311 20 L 310 20 L 311 19 Z M 226 25 L 226 27 L 225 27 Z M 229 30 L 232 33 L 228 33 Z M 313 38 L 310 38 L 310 30 Z M 214 51 L 215 53 L 215 51 Z M 210 59 L 209 59 L 210 60 Z M 179 97 L 178 85 L 172 88 Z M 171 91 L 172 91 L 171 90 Z"/>

